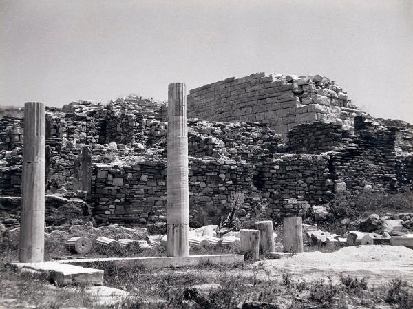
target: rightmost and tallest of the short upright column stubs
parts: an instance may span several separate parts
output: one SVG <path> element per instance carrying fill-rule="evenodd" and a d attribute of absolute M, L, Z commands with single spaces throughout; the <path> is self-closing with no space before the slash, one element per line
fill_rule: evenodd
<path fill-rule="evenodd" d="M 304 252 L 301 217 L 284 217 L 282 244 L 286 253 Z"/>

